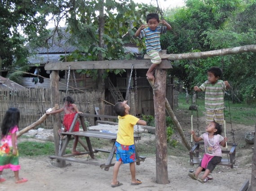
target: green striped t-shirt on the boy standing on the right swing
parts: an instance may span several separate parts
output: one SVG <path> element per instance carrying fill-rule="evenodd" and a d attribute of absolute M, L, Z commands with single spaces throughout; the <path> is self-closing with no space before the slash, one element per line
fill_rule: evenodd
<path fill-rule="evenodd" d="M 222 80 L 218 80 L 214 85 L 209 81 L 205 81 L 199 88 L 205 91 L 204 104 L 206 110 L 224 109 L 224 91 L 226 90 L 226 85 Z"/>

